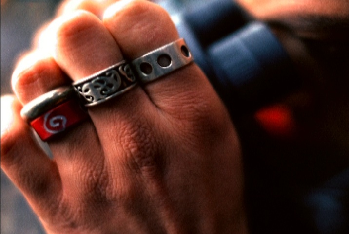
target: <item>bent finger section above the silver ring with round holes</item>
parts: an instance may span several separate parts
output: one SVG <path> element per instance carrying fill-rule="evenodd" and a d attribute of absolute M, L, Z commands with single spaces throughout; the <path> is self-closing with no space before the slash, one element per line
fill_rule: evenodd
<path fill-rule="evenodd" d="M 104 24 L 116 32 L 120 45 L 129 45 L 129 41 L 133 41 L 134 46 L 123 49 L 134 56 L 139 55 L 140 46 L 152 50 L 178 38 L 170 15 L 159 5 L 144 0 L 133 0 L 121 10 L 105 14 Z"/>

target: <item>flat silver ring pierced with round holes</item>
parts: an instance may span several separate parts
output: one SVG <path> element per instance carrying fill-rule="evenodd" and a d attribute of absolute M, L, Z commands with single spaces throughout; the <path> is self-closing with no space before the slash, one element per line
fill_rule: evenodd
<path fill-rule="evenodd" d="M 193 56 L 183 38 L 144 54 L 131 62 L 142 83 L 147 83 L 191 63 Z"/>

